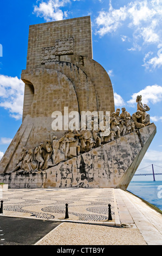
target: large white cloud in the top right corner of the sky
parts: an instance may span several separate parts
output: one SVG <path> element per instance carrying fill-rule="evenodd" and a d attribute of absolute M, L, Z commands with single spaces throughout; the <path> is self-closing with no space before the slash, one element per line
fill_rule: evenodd
<path fill-rule="evenodd" d="M 109 1 L 109 10 L 101 10 L 96 18 L 96 34 L 103 36 L 125 26 L 129 31 L 132 29 L 131 49 L 140 50 L 139 44 L 157 44 L 162 38 L 161 9 L 161 1 L 135 0 L 118 9 L 114 9 Z"/>

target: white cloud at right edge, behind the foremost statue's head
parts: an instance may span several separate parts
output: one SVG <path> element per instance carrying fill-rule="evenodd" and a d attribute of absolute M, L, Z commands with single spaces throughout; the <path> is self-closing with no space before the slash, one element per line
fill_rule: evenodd
<path fill-rule="evenodd" d="M 138 93 L 134 93 L 131 97 L 132 99 L 127 101 L 129 106 L 134 107 L 136 104 L 137 95 L 142 95 L 142 103 L 157 103 L 162 101 L 162 87 L 154 84 L 153 86 L 147 86 L 140 90 Z"/>

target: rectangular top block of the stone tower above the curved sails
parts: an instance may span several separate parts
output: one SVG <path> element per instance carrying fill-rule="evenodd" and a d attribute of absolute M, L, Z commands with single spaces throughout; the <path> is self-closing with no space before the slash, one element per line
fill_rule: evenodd
<path fill-rule="evenodd" d="M 90 16 L 29 26 L 27 69 L 68 61 L 70 54 L 93 58 Z"/>

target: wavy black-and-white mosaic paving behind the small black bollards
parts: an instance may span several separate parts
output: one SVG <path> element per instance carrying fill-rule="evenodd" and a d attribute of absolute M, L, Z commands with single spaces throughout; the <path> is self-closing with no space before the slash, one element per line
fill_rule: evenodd
<path fill-rule="evenodd" d="M 113 188 L 9 189 L 0 199 L 8 216 L 63 220 L 68 204 L 69 220 L 107 221 L 111 204 L 115 217 Z"/>

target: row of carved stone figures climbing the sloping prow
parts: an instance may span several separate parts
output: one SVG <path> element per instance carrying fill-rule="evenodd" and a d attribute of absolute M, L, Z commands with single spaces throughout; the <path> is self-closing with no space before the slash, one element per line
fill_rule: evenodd
<path fill-rule="evenodd" d="M 129 114 L 126 108 L 116 109 L 111 114 L 110 128 L 108 136 L 101 136 L 101 131 L 92 130 L 72 131 L 68 130 L 63 136 L 58 138 L 53 136 L 53 141 L 46 139 L 45 143 L 40 143 L 34 149 L 27 150 L 23 147 L 20 159 L 13 172 L 37 172 L 46 170 L 56 164 L 67 161 L 75 156 L 83 154 L 102 144 L 113 141 L 116 138 L 125 136 L 137 129 L 150 124 L 150 115 L 146 112 L 150 110 L 147 105 L 142 105 L 142 96 L 137 96 L 137 112 Z"/>

